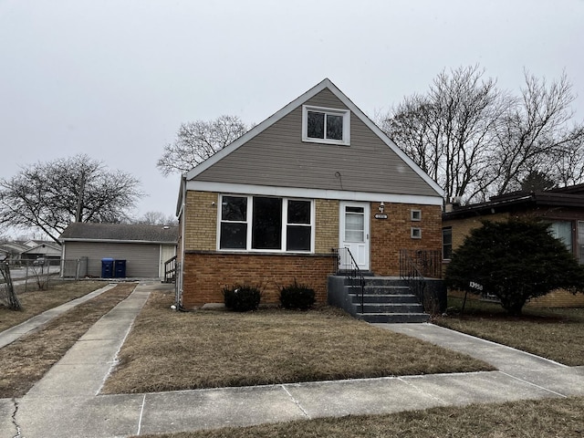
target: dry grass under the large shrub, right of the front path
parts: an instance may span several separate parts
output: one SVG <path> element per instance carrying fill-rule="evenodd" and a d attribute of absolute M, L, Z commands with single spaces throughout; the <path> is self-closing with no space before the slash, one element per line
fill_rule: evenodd
<path fill-rule="evenodd" d="M 510 317 L 497 304 L 467 300 L 460 317 L 460 298 L 449 298 L 452 316 L 434 322 L 568 366 L 584 365 L 584 308 L 525 308 Z"/>

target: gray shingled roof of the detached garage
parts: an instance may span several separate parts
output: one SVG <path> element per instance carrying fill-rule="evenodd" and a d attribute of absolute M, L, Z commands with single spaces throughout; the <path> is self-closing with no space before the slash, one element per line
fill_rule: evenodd
<path fill-rule="evenodd" d="M 61 242 L 130 242 L 142 244 L 176 244 L 179 227 L 142 224 L 83 224 L 68 225 L 59 236 Z"/>

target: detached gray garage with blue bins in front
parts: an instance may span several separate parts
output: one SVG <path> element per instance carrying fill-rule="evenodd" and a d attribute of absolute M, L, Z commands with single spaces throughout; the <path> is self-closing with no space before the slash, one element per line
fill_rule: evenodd
<path fill-rule="evenodd" d="M 63 266 L 87 261 L 87 276 L 102 275 L 102 260 L 125 260 L 125 276 L 164 276 L 164 262 L 176 255 L 178 226 L 72 223 L 59 236 Z M 64 272 L 63 276 L 67 276 Z"/>

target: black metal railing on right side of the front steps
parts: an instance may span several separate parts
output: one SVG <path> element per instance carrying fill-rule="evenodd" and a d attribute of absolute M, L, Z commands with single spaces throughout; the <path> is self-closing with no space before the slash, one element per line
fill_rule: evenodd
<path fill-rule="evenodd" d="M 407 281 L 425 312 L 435 314 L 440 304 L 430 292 L 428 279 L 442 276 L 442 253 L 433 250 L 400 250 L 400 277 Z"/>

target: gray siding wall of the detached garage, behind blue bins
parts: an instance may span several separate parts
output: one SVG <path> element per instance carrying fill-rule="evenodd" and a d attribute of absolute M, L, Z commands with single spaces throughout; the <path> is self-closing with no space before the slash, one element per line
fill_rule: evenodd
<path fill-rule="evenodd" d="M 126 260 L 126 276 L 158 278 L 160 244 L 124 244 L 102 242 L 66 242 L 65 258 L 88 257 L 88 275 L 101 276 L 101 259 Z"/>

